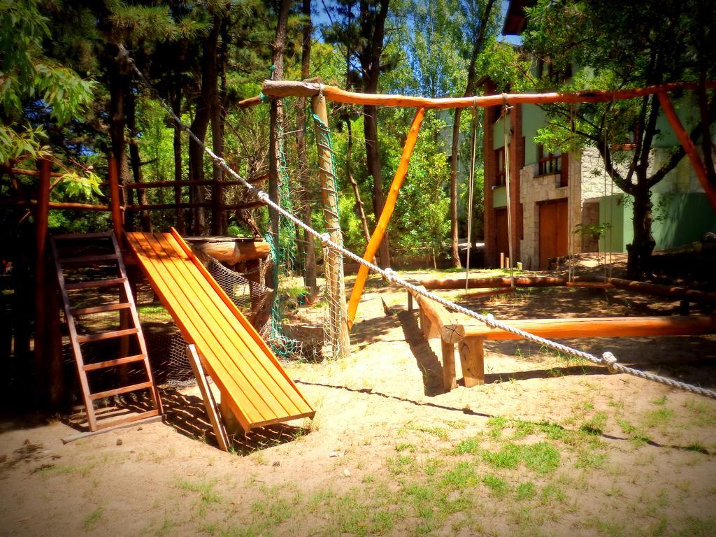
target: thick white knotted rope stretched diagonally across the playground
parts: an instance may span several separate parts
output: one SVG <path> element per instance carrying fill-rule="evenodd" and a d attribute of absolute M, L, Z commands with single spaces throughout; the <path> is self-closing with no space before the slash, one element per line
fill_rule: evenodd
<path fill-rule="evenodd" d="M 716 391 L 714 390 L 707 390 L 706 388 L 692 386 L 691 384 L 686 384 L 685 382 L 679 382 L 678 380 L 669 379 L 668 377 L 662 377 L 661 375 L 649 373 L 645 371 L 639 371 L 639 369 L 633 369 L 632 367 L 627 367 L 622 364 L 619 364 L 619 362 L 616 361 L 616 357 L 614 357 L 614 354 L 611 354 L 611 352 L 604 352 L 604 354 L 600 357 L 595 356 L 594 354 L 589 354 L 589 352 L 580 351 L 578 349 L 573 349 L 572 347 L 568 347 L 567 345 L 563 345 L 557 342 L 553 342 L 550 339 L 546 339 L 543 337 L 536 336 L 535 334 L 531 334 L 529 332 L 525 332 L 524 330 L 515 328 L 513 326 L 509 326 L 508 324 L 504 324 L 495 317 L 493 317 L 492 314 L 478 314 L 477 311 L 473 311 L 471 309 L 465 308 L 464 306 L 460 306 L 460 304 L 455 304 L 454 302 L 448 301 L 443 299 L 441 296 L 431 293 L 430 291 L 427 291 L 425 289 L 420 289 L 420 287 L 415 286 L 414 284 L 411 284 L 410 281 L 406 281 L 402 279 L 400 276 L 397 276 L 395 274 L 395 271 L 392 271 L 392 269 L 381 269 L 379 266 L 374 265 L 373 263 L 370 263 L 369 261 L 366 261 L 364 258 L 360 257 L 356 253 L 353 253 L 350 250 L 347 250 L 346 248 L 343 248 L 343 246 L 340 246 L 337 243 L 334 243 L 331 240 L 331 236 L 328 232 L 325 233 L 319 233 L 314 228 L 311 228 L 310 226 L 306 226 L 306 224 L 301 221 L 299 218 L 296 218 L 294 215 L 289 213 L 289 211 L 286 211 L 284 208 L 281 208 L 281 205 L 278 203 L 274 203 L 271 199 L 269 199 L 269 194 L 264 192 L 263 190 L 256 188 L 251 183 L 248 183 L 246 179 L 242 178 L 241 175 L 238 175 L 236 171 L 231 169 L 227 164 L 226 160 L 224 160 L 221 157 L 218 157 L 211 149 L 206 147 L 204 143 L 193 133 L 191 132 L 188 125 L 184 125 L 180 118 L 175 115 L 172 108 L 168 105 L 165 100 L 159 95 L 157 90 L 153 87 L 152 84 L 146 79 L 144 74 L 137 69 L 137 66 L 134 63 L 134 60 L 127 57 L 127 62 L 130 64 L 132 69 L 134 70 L 135 74 L 137 74 L 137 77 L 142 80 L 142 82 L 145 84 L 147 89 L 152 92 L 155 99 L 158 100 L 160 105 L 168 112 L 170 117 L 174 120 L 176 125 L 187 132 L 187 134 L 196 142 L 200 147 L 203 148 L 204 152 L 211 157 L 214 163 L 216 165 L 221 166 L 224 170 L 226 170 L 227 173 L 230 175 L 233 175 L 234 178 L 241 181 L 243 185 L 246 187 L 247 190 L 249 190 L 253 195 L 258 198 L 258 200 L 261 200 L 263 203 L 266 203 L 266 205 L 271 206 L 272 208 L 276 209 L 276 211 L 279 211 L 283 216 L 288 218 L 291 222 L 293 222 L 296 226 L 299 226 L 301 229 L 304 229 L 307 233 L 310 235 L 313 235 L 316 238 L 319 238 L 321 240 L 321 245 L 324 248 L 333 248 L 334 250 L 340 251 L 343 253 L 344 256 L 351 258 L 356 263 L 360 263 L 363 266 L 366 266 L 369 270 L 376 272 L 377 274 L 380 274 L 383 276 L 383 278 L 388 281 L 390 284 L 399 285 L 404 287 L 405 289 L 408 289 L 414 293 L 420 294 L 422 296 L 425 296 L 428 299 L 436 301 L 438 304 L 442 304 L 442 306 L 445 306 L 448 309 L 451 309 L 453 311 L 456 311 L 457 313 L 461 313 L 463 315 L 466 315 L 468 317 L 471 317 L 473 319 L 476 319 L 487 326 L 490 326 L 490 328 L 496 328 L 500 330 L 504 330 L 505 332 L 510 332 L 511 334 L 515 334 L 518 337 L 521 337 L 523 339 L 527 339 L 528 341 L 535 342 L 539 345 L 543 345 L 544 347 L 549 347 L 551 349 L 555 349 L 558 352 L 562 352 L 563 354 L 567 354 L 571 357 L 575 358 L 581 358 L 584 360 L 587 360 L 589 362 L 593 362 L 594 364 L 603 365 L 606 367 L 606 369 L 609 370 L 611 373 L 628 373 L 632 374 L 635 377 L 640 377 L 642 379 L 652 380 L 653 382 L 659 382 L 660 384 L 664 384 L 669 387 L 679 388 L 681 390 L 685 390 L 687 392 L 692 392 L 698 395 L 704 395 L 705 397 L 711 397 L 712 399 L 716 399 Z"/>

